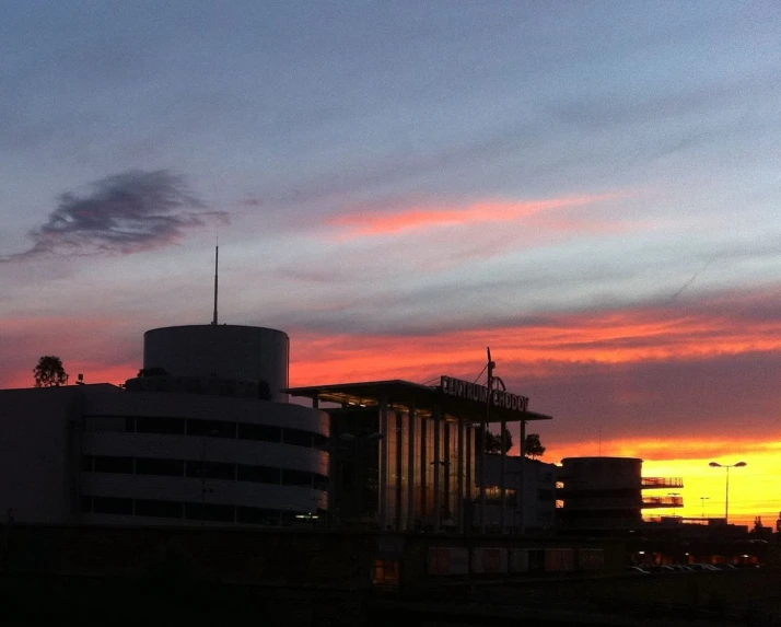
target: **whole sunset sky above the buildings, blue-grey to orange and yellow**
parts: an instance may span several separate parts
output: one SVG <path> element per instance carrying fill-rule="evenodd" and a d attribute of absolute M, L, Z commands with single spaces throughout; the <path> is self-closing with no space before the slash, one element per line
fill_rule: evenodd
<path fill-rule="evenodd" d="M 0 387 L 143 332 L 291 338 L 291 384 L 475 380 L 545 461 L 781 511 L 781 7 L 4 0 Z M 658 496 L 664 496 L 661 494 Z M 649 514 L 653 512 L 646 512 Z M 667 512 L 662 512 L 667 513 Z"/>

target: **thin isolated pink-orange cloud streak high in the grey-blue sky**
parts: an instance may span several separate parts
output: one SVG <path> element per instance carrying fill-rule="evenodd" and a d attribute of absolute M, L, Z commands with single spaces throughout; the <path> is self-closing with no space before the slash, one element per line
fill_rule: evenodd
<path fill-rule="evenodd" d="M 464 227 L 487 222 L 513 222 L 552 209 L 574 208 L 594 202 L 614 200 L 619 194 L 564 196 L 549 200 L 512 202 L 505 200 L 483 201 L 466 208 L 410 207 L 395 212 L 358 210 L 329 220 L 328 224 L 346 230 L 346 236 L 395 235 L 411 230 L 434 227 Z M 560 228 L 582 225 L 582 221 L 563 220 Z"/>

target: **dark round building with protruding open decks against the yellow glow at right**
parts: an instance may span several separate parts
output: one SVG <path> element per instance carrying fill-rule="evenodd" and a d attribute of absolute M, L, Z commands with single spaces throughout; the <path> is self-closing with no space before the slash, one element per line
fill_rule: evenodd
<path fill-rule="evenodd" d="M 566 457 L 558 473 L 560 529 L 570 532 L 617 532 L 643 524 L 642 510 L 680 508 L 680 495 L 644 497 L 644 490 L 680 489 L 678 477 L 643 477 L 637 457 Z"/>

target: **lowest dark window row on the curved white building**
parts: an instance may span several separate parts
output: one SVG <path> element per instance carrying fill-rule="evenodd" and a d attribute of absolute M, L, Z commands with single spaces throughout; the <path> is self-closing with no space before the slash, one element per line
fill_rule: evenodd
<path fill-rule="evenodd" d="M 263 508 L 219 506 L 213 503 L 191 503 L 159 501 L 150 499 L 119 499 L 115 497 L 82 497 L 82 513 L 114 514 L 128 516 L 151 516 L 184 519 L 240 524 L 288 525 L 296 520 L 314 520 L 305 513 Z"/>

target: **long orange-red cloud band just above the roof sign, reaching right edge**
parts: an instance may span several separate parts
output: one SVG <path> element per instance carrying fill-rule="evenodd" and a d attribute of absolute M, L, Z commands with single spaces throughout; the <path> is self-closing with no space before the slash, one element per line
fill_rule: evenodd
<path fill-rule="evenodd" d="M 772 297 L 772 294 L 770 294 Z M 438 373 L 467 375 L 493 345 L 504 368 L 545 375 L 571 363 L 707 359 L 781 349 L 781 320 L 742 315 L 768 294 L 725 294 L 686 306 L 549 315 L 539 322 L 409 336 L 296 334 L 291 373 L 301 384 Z M 756 301 L 753 303 L 753 301 Z M 736 304 L 737 303 L 737 304 Z M 721 312 L 714 315 L 713 312 Z M 476 375 L 474 373 L 473 375 Z"/>

